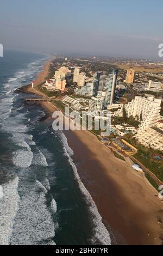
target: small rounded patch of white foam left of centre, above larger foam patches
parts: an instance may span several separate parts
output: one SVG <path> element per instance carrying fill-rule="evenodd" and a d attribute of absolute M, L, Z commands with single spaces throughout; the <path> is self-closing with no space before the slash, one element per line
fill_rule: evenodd
<path fill-rule="evenodd" d="M 32 164 L 33 152 L 30 149 L 18 149 L 13 154 L 13 163 L 15 166 L 27 168 Z"/>

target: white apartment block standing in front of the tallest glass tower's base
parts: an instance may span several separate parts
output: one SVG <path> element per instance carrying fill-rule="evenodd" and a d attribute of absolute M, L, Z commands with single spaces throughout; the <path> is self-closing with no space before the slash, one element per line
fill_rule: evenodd
<path fill-rule="evenodd" d="M 102 111 L 103 97 L 92 97 L 89 101 L 88 114 L 93 116 L 99 115 Z"/>

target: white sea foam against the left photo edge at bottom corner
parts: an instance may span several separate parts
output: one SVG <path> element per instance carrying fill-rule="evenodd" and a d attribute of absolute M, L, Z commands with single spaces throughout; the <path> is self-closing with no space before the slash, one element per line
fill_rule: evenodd
<path fill-rule="evenodd" d="M 18 209 L 18 177 L 2 185 L 3 197 L 0 198 L 0 245 L 9 245 L 14 218 Z"/>

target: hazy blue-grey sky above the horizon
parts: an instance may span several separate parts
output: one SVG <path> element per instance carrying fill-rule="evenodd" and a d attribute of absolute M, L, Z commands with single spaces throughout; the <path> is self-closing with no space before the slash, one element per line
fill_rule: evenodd
<path fill-rule="evenodd" d="M 162 11 L 162 0 L 1 0 L 0 43 L 33 52 L 157 59 Z"/>

